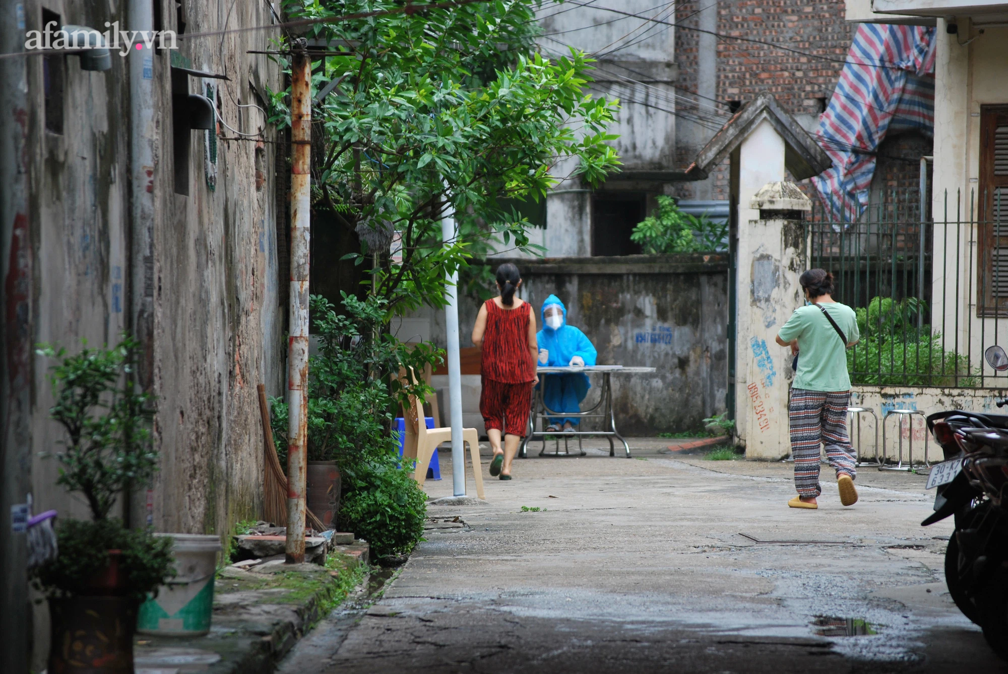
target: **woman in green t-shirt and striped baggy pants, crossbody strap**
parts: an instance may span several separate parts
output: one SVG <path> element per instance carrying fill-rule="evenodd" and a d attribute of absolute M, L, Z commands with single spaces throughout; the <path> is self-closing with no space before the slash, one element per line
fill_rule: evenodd
<path fill-rule="evenodd" d="M 851 400 L 851 377 L 847 373 L 847 347 L 861 338 L 854 310 L 834 301 L 833 275 L 808 270 L 798 278 L 805 293 L 805 306 L 794 310 L 777 334 L 777 343 L 790 346 L 799 355 L 788 420 L 794 456 L 794 487 L 798 495 L 787 502 L 792 508 L 817 508 L 820 455 L 826 445 L 830 466 L 837 471 L 840 501 L 845 506 L 858 501 L 854 488 L 857 471 L 851 441 L 847 437 L 847 405 Z"/>

